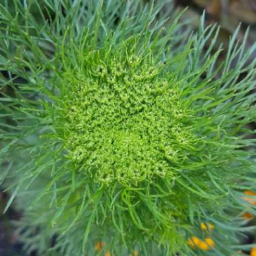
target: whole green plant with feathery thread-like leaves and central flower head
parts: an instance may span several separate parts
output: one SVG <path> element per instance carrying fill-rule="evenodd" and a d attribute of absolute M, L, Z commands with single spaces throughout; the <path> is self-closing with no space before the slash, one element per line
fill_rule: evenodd
<path fill-rule="evenodd" d="M 1 181 L 28 253 L 235 255 L 252 229 L 256 45 L 238 28 L 220 62 L 218 28 L 189 34 L 164 4 L 0 5 Z"/>

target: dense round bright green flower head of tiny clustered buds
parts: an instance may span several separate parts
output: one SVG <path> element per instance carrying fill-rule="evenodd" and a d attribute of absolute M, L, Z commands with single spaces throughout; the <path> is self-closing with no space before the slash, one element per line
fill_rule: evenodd
<path fill-rule="evenodd" d="M 96 183 L 138 185 L 172 177 L 196 140 L 177 79 L 164 77 L 162 64 L 150 56 L 119 46 L 117 53 L 98 57 L 106 51 L 92 53 L 83 63 L 91 68 L 64 79 L 70 88 L 61 106 L 67 109 L 63 139 L 69 157 Z"/>

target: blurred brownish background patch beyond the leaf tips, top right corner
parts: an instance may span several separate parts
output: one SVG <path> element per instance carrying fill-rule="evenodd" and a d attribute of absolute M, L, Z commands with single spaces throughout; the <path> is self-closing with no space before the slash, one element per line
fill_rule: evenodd
<path fill-rule="evenodd" d="M 189 7 L 183 19 L 191 20 L 195 29 L 199 25 L 200 15 L 205 10 L 207 24 L 220 24 L 220 37 L 224 48 L 228 45 L 230 35 L 241 24 L 240 38 L 250 27 L 248 44 L 256 41 L 256 1 L 255 0 L 175 0 L 179 9 Z M 255 53 L 256 55 L 256 53 Z M 253 57 L 256 57 L 256 56 Z"/>

